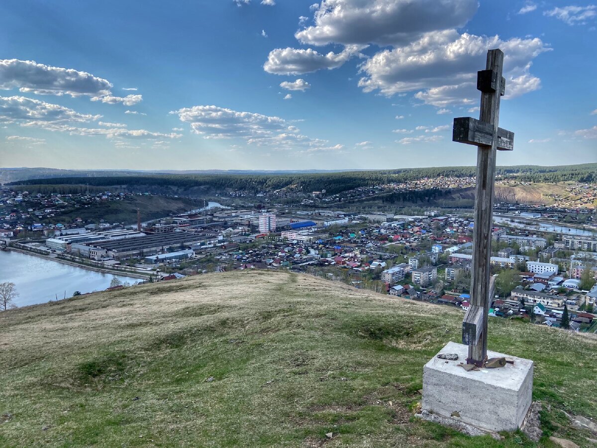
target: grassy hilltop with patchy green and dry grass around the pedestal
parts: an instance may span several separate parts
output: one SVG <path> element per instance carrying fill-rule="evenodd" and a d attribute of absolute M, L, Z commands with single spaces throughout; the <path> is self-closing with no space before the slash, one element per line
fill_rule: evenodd
<path fill-rule="evenodd" d="M 278 271 L 3 312 L 0 446 L 535 446 L 413 418 L 423 365 L 462 317 Z M 597 339 L 493 318 L 489 346 L 536 362 L 540 446 L 590 446 L 562 410 L 597 419 Z"/>

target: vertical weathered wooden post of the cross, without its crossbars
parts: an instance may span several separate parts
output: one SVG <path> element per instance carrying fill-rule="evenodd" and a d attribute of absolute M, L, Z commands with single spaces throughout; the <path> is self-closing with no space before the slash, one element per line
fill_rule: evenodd
<path fill-rule="evenodd" d="M 500 93 L 504 53 L 490 50 L 487 53 L 487 70 L 496 72 L 496 88 L 481 92 L 479 119 L 493 125 L 491 148 L 477 148 L 477 179 L 475 200 L 475 228 L 473 231 L 473 260 L 470 298 L 471 305 L 480 306 L 483 329 L 479 340 L 469 345 L 469 364 L 481 366 L 487 358 L 487 314 L 490 294 L 491 228 L 493 226 L 494 180 L 496 176 L 497 128 L 500 119 Z"/>

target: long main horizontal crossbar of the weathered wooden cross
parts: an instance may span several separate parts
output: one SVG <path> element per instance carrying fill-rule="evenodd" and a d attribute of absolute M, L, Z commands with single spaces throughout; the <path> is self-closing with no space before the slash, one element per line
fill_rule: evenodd
<path fill-rule="evenodd" d="M 475 146 L 491 147 L 493 140 L 493 126 L 470 116 L 454 118 L 452 141 L 467 143 Z M 514 133 L 497 128 L 498 151 L 512 151 L 514 149 Z"/>

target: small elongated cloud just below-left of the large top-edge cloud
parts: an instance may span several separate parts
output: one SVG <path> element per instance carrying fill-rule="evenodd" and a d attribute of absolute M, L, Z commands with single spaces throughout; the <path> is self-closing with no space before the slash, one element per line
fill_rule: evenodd
<path fill-rule="evenodd" d="M 327 54 L 318 53 L 312 48 L 276 48 L 269 52 L 263 69 L 276 75 L 300 75 L 321 69 L 331 70 L 357 56 L 363 48 L 362 45 L 348 45 L 340 53 L 330 51 Z"/>

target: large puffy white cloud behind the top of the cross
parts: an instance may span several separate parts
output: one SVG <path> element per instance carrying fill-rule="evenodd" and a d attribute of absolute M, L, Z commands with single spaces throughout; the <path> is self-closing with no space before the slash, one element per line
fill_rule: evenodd
<path fill-rule="evenodd" d="M 475 91 L 475 74 L 485 65 L 487 50 L 497 47 L 505 54 L 506 94 L 510 95 L 510 84 L 538 88 L 538 78 L 529 75 L 528 70 L 534 57 L 550 50 L 541 39 L 502 41 L 498 36 L 460 35 L 456 30 L 426 33 L 404 47 L 378 52 L 361 66 L 365 76 L 359 80 L 359 86 L 365 92 L 379 90 L 386 96 L 418 89 L 443 89 L 444 92 L 421 93 L 420 99 L 430 95 L 436 102 L 446 93 L 458 97 L 462 103 L 471 99 L 462 97 L 464 90 L 470 94 Z M 515 90 L 516 95 L 524 93 L 521 88 Z"/>

